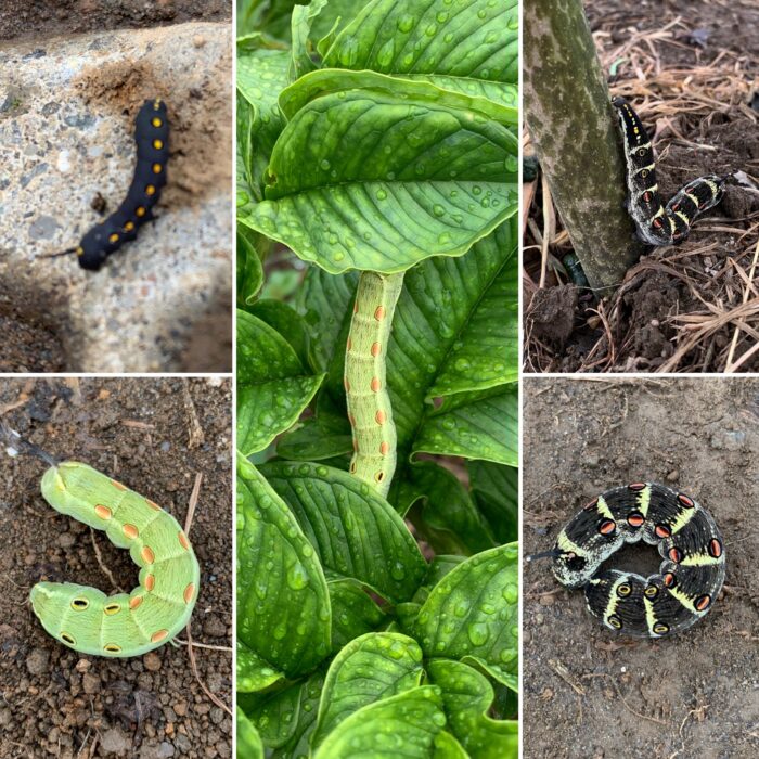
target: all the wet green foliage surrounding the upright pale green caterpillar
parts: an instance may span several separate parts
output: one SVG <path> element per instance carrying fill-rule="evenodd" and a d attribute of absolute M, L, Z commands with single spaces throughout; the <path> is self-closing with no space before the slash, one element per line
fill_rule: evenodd
<path fill-rule="evenodd" d="M 252 757 L 517 756 L 516 9 L 237 2 Z M 347 471 L 360 271 L 404 272 L 387 498 Z"/>

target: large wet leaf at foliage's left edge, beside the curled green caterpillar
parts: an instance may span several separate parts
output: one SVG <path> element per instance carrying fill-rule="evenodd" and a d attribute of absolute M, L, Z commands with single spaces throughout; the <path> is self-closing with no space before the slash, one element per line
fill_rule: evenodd
<path fill-rule="evenodd" d="M 237 638 L 290 678 L 331 649 L 326 580 L 297 522 L 237 458 Z"/>

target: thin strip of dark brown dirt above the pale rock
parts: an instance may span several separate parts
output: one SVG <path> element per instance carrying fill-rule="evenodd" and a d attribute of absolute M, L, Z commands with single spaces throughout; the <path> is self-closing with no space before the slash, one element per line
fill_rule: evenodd
<path fill-rule="evenodd" d="M 3 0 L 0 40 L 231 18 L 231 0 Z"/>

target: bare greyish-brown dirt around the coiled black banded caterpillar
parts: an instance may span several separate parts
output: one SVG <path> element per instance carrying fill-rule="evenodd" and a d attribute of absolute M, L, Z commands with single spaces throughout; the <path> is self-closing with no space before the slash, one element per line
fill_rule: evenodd
<path fill-rule="evenodd" d="M 525 759 L 759 756 L 759 380 L 527 377 L 524 397 L 526 555 L 594 496 L 647 480 L 709 510 L 728 563 L 713 609 L 659 642 L 615 635 L 549 559 L 525 564 Z M 658 568 L 653 546 L 623 551 L 613 566 Z"/>

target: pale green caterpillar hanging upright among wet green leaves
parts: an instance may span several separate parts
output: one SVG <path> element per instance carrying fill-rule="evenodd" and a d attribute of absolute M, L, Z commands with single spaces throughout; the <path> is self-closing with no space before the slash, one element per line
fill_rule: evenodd
<path fill-rule="evenodd" d="M 353 433 L 350 472 L 387 496 L 396 471 L 396 427 L 385 359 L 403 274 L 359 278 L 345 352 L 345 390 Z"/>

